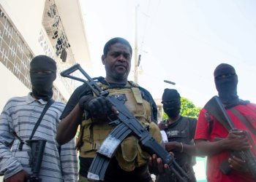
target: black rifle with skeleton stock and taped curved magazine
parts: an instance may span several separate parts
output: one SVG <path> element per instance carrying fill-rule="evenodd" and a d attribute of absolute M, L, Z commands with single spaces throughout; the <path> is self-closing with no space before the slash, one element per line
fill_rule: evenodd
<path fill-rule="evenodd" d="M 83 76 L 86 77 L 87 81 L 80 79 L 76 76 L 72 76 L 73 72 L 79 70 Z M 86 71 L 80 67 L 79 64 L 75 64 L 71 68 L 68 68 L 65 71 L 61 72 L 61 76 L 68 77 L 70 79 L 75 79 L 80 82 L 86 83 L 91 90 L 97 96 L 104 96 L 118 109 L 119 114 L 114 118 L 109 116 L 110 125 L 116 126 L 105 138 L 102 145 L 97 151 L 96 157 L 94 157 L 93 162 L 89 168 L 89 173 L 87 178 L 94 181 L 104 181 L 105 172 L 110 163 L 110 159 L 115 154 L 116 149 L 120 143 L 127 138 L 128 135 L 135 135 L 140 142 L 143 150 L 147 151 L 148 154 L 157 154 L 157 157 L 160 157 L 164 164 L 169 165 L 171 172 L 173 172 L 179 181 L 186 182 L 189 177 L 187 173 L 176 163 L 175 159 L 167 152 L 165 149 L 157 143 L 153 138 L 150 132 L 143 127 L 138 119 L 133 116 L 126 106 L 124 106 L 124 98 L 120 95 L 108 95 L 107 91 L 103 91 L 94 79 L 86 74 Z"/>

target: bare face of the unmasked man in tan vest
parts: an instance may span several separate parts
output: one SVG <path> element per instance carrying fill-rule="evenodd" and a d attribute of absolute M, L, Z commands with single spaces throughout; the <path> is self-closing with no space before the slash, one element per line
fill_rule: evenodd
<path fill-rule="evenodd" d="M 102 56 L 106 75 L 112 81 L 127 80 L 131 68 L 132 54 L 125 44 L 116 43 L 110 46 L 108 55 Z"/>

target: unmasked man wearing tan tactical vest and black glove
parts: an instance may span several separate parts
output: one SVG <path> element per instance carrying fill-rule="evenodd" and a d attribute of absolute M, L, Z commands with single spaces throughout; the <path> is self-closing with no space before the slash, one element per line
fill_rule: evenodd
<path fill-rule="evenodd" d="M 127 81 L 131 67 L 132 47 L 126 39 L 110 39 L 104 47 L 102 64 L 105 78 L 99 77 L 97 84 L 110 95 L 124 98 L 124 105 L 136 119 L 148 128 L 158 143 L 162 137 L 157 127 L 157 106 L 151 94 L 134 82 Z M 118 114 L 117 109 L 103 96 L 95 97 L 88 85 L 83 84 L 73 92 L 61 115 L 56 140 L 67 143 L 74 138 L 80 125 L 78 149 L 80 151 L 79 181 L 88 181 L 89 167 L 105 138 L 113 130 L 108 116 Z M 112 143 L 109 143 L 111 146 Z M 149 155 L 141 149 L 138 138 L 125 138 L 112 157 L 105 174 L 105 181 L 151 182 L 148 173 Z"/>

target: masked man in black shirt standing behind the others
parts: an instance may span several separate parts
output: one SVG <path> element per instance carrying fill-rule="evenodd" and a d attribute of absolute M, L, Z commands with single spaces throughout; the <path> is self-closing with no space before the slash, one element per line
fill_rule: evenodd
<path fill-rule="evenodd" d="M 195 182 L 195 173 L 193 165 L 195 165 L 195 144 L 194 135 L 197 119 L 181 116 L 181 96 L 177 90 L 165 89 L 162 95 L 162 106 L 168 119 L 159 122 L 160 130 L 167 135 L 165 149 L 172 151 L 176 162 L 189 175 L 189 181 Z M 169 175 L 157 175 L 157 182 L 178 181 L 176 176 L 171 173 Z"/>

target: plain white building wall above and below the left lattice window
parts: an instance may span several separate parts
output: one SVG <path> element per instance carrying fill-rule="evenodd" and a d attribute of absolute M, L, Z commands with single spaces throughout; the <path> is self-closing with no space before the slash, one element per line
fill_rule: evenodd
<path fill-rule="evenodd" d="M 42 47 L 38 43 L 38 37 L 42 28 L 45 0 L 0 0 L 0 4 L 32 52 L 35 55 L 41 54 Z M 9 98 L 27 95 L 29 92 L 29 89 L 2 63 L 0 63 L 0 87 L 0 111 Z"/>

